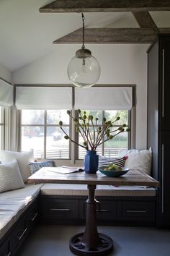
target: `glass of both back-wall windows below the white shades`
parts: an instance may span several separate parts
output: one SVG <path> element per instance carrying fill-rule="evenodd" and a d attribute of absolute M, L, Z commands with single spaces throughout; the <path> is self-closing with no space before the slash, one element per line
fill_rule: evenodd
<path fill-rule="evenodd" d="M 102 119 L 115 119 L 120 116 L 120 120 L 115 123 L 115 127 L 127 124 L 130 128 L 130 111 L 88 111 L 87 115 L 98 117 L 97 126 L 102 124 Z M 71 124 L 66 110 L 22 110 L 22 140 L 21 149 L 34 149 L 35 158 L 49 159 L 70 159 L 71 142 L 64 139 L 58 123 L 63 121 L 63 128 L 68 135 L 71 135 Z M 82 137 L 76 133 L 77 142 L 83 142 Z M 116 156 L 121 149 L 130 148 L 130 132 L 121 133 L 112 140 L 104 142 L 97 148 L 99 155 Z M 78 159 L 83 159 L 86 150 L 76 146 Z"/>

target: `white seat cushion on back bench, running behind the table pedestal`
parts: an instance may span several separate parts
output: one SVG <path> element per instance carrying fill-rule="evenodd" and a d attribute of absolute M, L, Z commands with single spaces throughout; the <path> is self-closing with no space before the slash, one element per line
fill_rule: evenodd
<path fill-rule="evenodd" d="M 42 195 L 88 195 L 87 186 L 84 184 L 44 184 L 41 187 Z M 156 189 L 143 186 L 112 186 L 97 185 L 96 196 L 156 196 Z"/>

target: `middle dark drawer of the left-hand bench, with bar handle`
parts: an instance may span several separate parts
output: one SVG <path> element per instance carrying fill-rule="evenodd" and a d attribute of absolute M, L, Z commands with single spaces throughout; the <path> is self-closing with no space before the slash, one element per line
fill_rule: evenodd
<path fill-rule="evenodd" d="M 17 250 L 19 248 L 27 234 L 27 220 L 23 219 L 18 223 L 17 227 L 14 229 L 14 232 L 12 234 L 12 245 L 14 250 Z"/>

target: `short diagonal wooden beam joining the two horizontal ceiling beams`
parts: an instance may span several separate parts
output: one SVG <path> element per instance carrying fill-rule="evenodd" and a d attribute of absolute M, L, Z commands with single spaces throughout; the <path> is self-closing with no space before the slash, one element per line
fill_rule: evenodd
<path fill-rule="evenodd" d="M 133 16 L 141 28 L 151 28 L 156 32 L 159 32 L 158 27 L 149 12 L 133 12 Z"/>

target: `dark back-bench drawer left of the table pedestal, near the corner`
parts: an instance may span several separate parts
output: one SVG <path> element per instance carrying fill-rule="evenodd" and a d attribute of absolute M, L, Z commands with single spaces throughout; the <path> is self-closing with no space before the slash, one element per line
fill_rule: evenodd
<path fill-rule="evenodd" d="M 50 199 L 42 200 L 42 216 L 45 218 L 76 219 L 79 218 L 78 200 Z"/>

